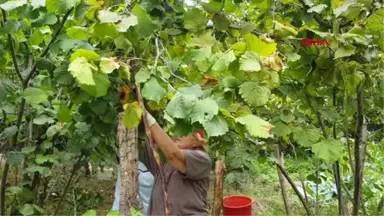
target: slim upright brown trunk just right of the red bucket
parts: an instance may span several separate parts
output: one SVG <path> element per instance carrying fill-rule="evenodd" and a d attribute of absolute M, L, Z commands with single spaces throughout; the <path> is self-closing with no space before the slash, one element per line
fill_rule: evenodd
<path fill-rule="evenodd" d="M 279 141 L 279 144 L 276 145 L 276 147 L 275 147 L 275 155 L 277 158 L 277 163 L 281 167 L 284 167 L 284 154 L 283 154 L 283 146 L 281 145 L 281 141 Z M 277 174 L 279 175 L 281 195 L 283 196 L 285 212 L 286 212 L 287 216 L 290 216 L 291 215 L 291 209 L 289 208 L 288 198 L 287 198 L 287 191 L 288 191 L 287 182 L 285 181 L 284 175 L 279 170 L 278 167 L 277 167 Z M 303 188 L 303 189 L 305 190 L 305 188 Z"/>

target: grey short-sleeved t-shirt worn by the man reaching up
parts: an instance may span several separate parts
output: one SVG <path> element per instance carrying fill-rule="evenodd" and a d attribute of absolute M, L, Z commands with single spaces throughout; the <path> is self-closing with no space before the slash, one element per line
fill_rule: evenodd
<path fill-rule="evenodd" d="M 201 150 L 183 150 L 186 174 L 171 164 L 163 166 L 171 216 L 207 216 L 207 191 L 211 159 Z M 165 216 L 161 178 L 158 170 L 151 168 L 155 176 L 148 216 Z"/>

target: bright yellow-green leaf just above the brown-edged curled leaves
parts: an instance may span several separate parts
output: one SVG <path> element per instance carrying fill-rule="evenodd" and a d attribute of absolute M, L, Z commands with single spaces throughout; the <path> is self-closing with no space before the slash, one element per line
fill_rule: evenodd
<path fill-rule="evenodd" d="M 253 51 L 260 56 L 269 56 L 277 50 L 276 43 L 266 43 L 253 34 L 246 34 L 243 37 L 247 44 L 247 50 Z"/>

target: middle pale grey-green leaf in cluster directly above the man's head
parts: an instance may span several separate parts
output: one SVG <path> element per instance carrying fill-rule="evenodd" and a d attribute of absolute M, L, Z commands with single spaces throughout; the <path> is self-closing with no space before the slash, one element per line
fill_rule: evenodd
<path fill-rule="evenodd" d="M 211 121 L 213 116 L 218 113 L 219 106 L 217 103 L 210 98 L 206 98 L 204 100 L 196 101 L 189 116 L 191 118 L 191 123 L 200 122 L 201 124 L 204 124 L 205 122 Z"/>

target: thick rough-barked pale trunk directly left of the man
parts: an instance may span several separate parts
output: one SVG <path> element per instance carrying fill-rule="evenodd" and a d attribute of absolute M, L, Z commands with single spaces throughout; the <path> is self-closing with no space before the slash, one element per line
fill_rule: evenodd
<path fill-rule="evenodd" d="M 120 149 L 120 215 L 129 216 L 130 208 L 142 210 L 138 184 L 138 129 L 127 129 L 123 123 L 123 113 L 119 114 L 117 142 Z"/>

